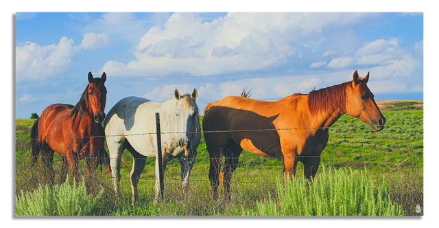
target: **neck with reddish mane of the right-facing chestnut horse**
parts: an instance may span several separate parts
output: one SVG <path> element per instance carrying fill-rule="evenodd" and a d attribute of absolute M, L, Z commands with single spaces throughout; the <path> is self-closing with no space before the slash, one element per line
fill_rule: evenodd
<path fill-rule="evenodd" d="M 348 82 L 345 82 L 308 94 L 308 108 L 316 127 L 330 127 L 347 113 L 346 87 L 348 86 Z"/>

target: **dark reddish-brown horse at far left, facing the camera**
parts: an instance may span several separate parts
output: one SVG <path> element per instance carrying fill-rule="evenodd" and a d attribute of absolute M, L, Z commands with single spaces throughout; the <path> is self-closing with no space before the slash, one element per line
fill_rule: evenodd
<path fill-rule="evenodd" d="M 98 163 L 106 163 L 106 172 L 111 174 L 109 157 L 104 149 L 105 103 L 107 89 L 104 86 L 106 73 L 101 78 L 93 78 L 88 73 L 88 85 L 80 101 L 75 106 L 71 104 L 52 104 L 48 106 L 32 126 L 32 165 L 41 155 L 49 181 L 54 183 L 54 152 L 62 156 L 60 181 L 67 176 L 67 166 L 70 166 L 73 177 L 78 179 L 80 159 L 87 163 L 86 181 Z"/>

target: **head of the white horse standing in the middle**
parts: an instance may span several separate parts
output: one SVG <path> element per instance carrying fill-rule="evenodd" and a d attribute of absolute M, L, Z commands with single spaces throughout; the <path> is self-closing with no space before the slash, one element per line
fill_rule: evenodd
<path fill-rule="evenodd" d="M 178 90 L 174 91 L 174 98 L 176 98 L 176 126 L 179 131 L 179 144 L 181 150 L 175 150 L 172 155 L 176 156 L 180 152 L 185 151 L 185 156 L 189 154 L 191 150 L 191 142 L 195 141 L 197 134 L 200 132 L 200 116 L 198 113 L 198 106 L 195 102 L 198 93 L 196 89 L 193 89 L 192 93 L 185 93 L 180 95 Z M 198 133 L 200 134 L 200 133 Z"/>

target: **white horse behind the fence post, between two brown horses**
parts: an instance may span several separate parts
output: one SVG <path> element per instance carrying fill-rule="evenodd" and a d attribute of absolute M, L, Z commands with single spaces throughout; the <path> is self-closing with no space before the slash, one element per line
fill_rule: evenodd
<path fill-rule="evenodd" d="M 165 103 L 156 103 L 145 98 L 123 98 L 108 112 L 104 122 L 105 135 L 110 150 L 112 182 L 119 194 L 121 179 L 121 155 L 123 150 L 131 152 L 132 203 L 139 200 L 137 183 L 146 157 L 157 158 L 156 115 L 160 113 L 163 170 L 170 159 L 179 159 L 183 191 L 189 187 L 189 174 L 197 156 L 201 139 L 200 116 L 195 102 L 197 90 L 192 94 L 180 95 L 174 91 L 174 98 Z M 158 183 L 158 159 L 156 159 L 156 197 L 160 196 Z"/>

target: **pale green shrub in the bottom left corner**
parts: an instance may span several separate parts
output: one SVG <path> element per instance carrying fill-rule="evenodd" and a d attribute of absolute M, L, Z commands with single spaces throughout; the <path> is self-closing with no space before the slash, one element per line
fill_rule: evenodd
<path fill-rule="evenodd" d="M 15 196 L 16 216 L 93 216 L 97 211 L 97 203 L 101 200 L 101 192 L 93 198 L 86 193 L 84 179 L 81 183 L 69 184 L 69 176 L 62 185 L 49 185 L 32 193 Z M 78 187 L 76 187 L 78 185 Z"/>

